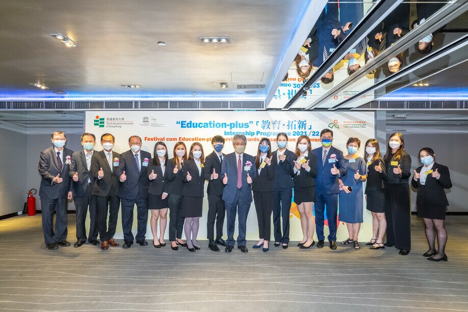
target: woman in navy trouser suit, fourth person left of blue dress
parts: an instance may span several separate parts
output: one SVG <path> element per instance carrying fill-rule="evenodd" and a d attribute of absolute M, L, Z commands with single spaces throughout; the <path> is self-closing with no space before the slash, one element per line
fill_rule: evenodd
<path fill-rule="evenodd" d="M 295 155 L 288 149 L 288 135 L 281 132 L 276 135 L 275 150 L 271 157 L 275 165 L 275 177 L 273 187 L 273 227 L 275 247 L 282 244 L 282 248 L 288 248 L 289 244 L 289 215 L 293 197 L 294 181 L 293 162 Z M 281 226 L 282 225 L 282 226 Z"/>

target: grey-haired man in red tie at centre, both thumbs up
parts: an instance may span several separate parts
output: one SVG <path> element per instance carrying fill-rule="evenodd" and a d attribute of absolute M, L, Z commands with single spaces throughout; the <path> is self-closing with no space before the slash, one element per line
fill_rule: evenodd
<path fill-rule="evenodd" d="M 223 179 L 223 200 L 227 214 L 227 241 L 226 252 L 231 252 L 234 247 L 234 229 L 236 226 L 236 212 L 239 222 L 239 236 L 237 248 L 242 252 L 248 252 L 245 244 L 245 232 L 247 215 L 252 202 L 251 185 L 256 176 L 255 160 L 253 156 L 244 153 L 247 138 L 244 135 L 235 135 L 232 145 L 235 152 L 227 154 L 221 166 Z"/>

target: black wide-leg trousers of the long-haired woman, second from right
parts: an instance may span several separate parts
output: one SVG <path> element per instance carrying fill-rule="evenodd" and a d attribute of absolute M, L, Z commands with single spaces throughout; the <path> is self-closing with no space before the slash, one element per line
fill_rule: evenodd
<path fill-rule="evenodd" d="M 385 186 L 385 219 L 387 244 L 397 249 L 411 249 L 411 207 L 408 184 Z"/>

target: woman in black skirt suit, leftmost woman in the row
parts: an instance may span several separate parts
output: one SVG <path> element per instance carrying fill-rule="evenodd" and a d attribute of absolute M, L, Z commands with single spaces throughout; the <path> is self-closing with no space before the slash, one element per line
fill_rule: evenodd
<path fill-rule="evenodd" d="M 148 209 L 151 210 L 151 232 L 153 233 L 153 246 L 161 248 L 166 246 L 164 233 L 166 232 L 167 210 L 169 202 L 167 199 L 167 174 L 166 166 L 167 146 L 164 142 L 154 144 L 153 159 L 148 164 L 149 189 L 148 189 Z M 158 219 L 159 233 L 158 237 Z"/>

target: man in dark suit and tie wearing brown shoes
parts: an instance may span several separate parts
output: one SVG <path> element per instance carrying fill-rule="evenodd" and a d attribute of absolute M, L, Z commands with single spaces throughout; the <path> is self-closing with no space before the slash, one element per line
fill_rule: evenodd
<path fill-rule="evenodd" d="M 112 150 L 114 142 L 113 135 L 103 134 L 101 136 L 103 150 L 94 153 L 91 159 L 91 172 L 95 180 L 92 194 L 96 204 L 97 230 L 102 250 L 109 249 L 109 245 L 119 246 L 114 240 L 114 234 L 120 207 L 120 183 L 117 177 L 120 154 Z"/>

